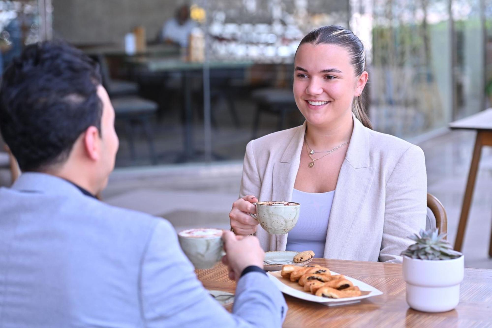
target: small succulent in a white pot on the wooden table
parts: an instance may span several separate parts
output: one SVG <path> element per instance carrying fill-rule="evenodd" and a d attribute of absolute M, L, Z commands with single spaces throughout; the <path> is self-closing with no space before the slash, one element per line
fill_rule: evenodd
<path fill-rule="evenodd" d="M 437 229 L 421 230 L 410 236 L 415 244 L 401 253 L 406 301 L 413 309 L 445 312 L 460 301 L 460 283 L 464 274 L 464 257 L 438 234 Z"/>

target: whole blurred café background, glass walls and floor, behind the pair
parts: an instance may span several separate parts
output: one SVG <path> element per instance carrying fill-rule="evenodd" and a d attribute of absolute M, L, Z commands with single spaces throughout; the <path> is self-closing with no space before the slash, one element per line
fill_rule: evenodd
<path fill-rule="evenodd" d="M 188 49 L 159 42 L 183 4 L 198 27 Z M 3 65 L 25 44 L 63 38 L 100 62 L 105 83 L 123 81 L 127 94 L 110 93 L 121 144 L 105 199 L 181 227 L 201 219 L 228 227 L 246 143 L 302 123 L 293 56 L 307 32 L 332 24 L 366 46 L 374 130 L 424 149 L 429 192 L 448 211 L 452 240 L 474 134 L 447 126 L 491 107 L 492 0 L 0 1 L 0 43 L 10 45 Z M 469 222 L 464 247 L 477 243 L 480 259 L 491 231 L 490 154 L 470 215 L 480 224 Z M 162 197 L 181 200 L 170 208 Z"/>

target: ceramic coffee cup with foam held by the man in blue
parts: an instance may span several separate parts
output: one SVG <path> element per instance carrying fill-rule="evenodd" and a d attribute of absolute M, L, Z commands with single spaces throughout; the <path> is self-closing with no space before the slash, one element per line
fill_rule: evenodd
<path fill-rule="evenodd" d="M 195 269 L 209 269 L 224 255 L 222 230 L 188 229 L 178 233 L 181 248 Z"/>

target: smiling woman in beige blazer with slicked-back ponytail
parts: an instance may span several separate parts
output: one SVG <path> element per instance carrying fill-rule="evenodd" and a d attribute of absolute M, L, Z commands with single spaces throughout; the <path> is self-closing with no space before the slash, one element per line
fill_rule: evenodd
<path fill-rule="evenodd" d="M 408 236 L 425 229 L 422 150 L 371 130 L 361 95 L 364 46 L 327 26 L 307 34 L 295 56 L 294 98 L 305 123 L 246 146 L 240 199 L 229 213 L 236 234 L 256 233 L 265 251 L 313 250 L 315 257 L 401 262 Z M 296 227 L 271 235 L 248 213 L 254 202 L 301 203 Z"/>

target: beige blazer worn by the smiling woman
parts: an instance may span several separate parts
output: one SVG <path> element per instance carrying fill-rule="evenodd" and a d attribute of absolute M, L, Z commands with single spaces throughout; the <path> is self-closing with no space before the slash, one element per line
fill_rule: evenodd
<path fill-rule="evenodd" d="M 401 262 L 401 251 L 413 243 L 408 236 L 426 227 L 424 152 L 353 119 L 333 197 L 325 251 L 315 257 Z M 291 200 L 305 131 L 306 122 L 247 144 L 240 197 Z M 256 236 L 265 251 L 285 250 L 287 245 L 287 234 L 272 235 L 260 226 Z"/>

